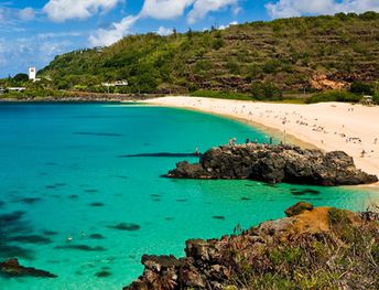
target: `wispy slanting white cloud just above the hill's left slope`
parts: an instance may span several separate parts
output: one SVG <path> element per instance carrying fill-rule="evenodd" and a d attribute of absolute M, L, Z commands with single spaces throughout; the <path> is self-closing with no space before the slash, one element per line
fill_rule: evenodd
<path fill-rule="evenodd" d="M 126 17 L 121 22 L 113 22 L 109 30 L 99 29 L 96 35 L 89 36 L 89 43 L 93 46 L 108 46 L 121 40 L 130 33 L 130 29 L 139 20 L 139 17 Z"/>

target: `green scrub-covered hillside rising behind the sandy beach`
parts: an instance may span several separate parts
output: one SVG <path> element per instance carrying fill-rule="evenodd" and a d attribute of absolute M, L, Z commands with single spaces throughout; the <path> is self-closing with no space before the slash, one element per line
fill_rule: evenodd
<path fill-rule="evenodd" d="M 255 82 L 283 90 L 348 87 L 379 79 L 379 14 L 295 18 L 170 36 L 131 35 L 105 49 L 57 56 L 40 72 L 59 88 L 128 93 L 214 89 L 247 93 Z M 121 92 L 122 93 L 122 92 Z"/>

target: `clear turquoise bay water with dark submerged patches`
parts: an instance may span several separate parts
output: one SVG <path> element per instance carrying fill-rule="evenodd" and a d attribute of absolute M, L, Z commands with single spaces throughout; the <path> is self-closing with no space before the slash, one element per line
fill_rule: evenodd
<path fill-rule="evenodd" d="M 167 180 L 160 175 L 177 161 L 196 159 L 122 157 L 193 153 L 231 137 L 268 140 L 239 122 L 180 109 L 1 105 L 0 259 L 19 257 L 59 277 L 0 277 L 0 289 L 121 289 L 142 272 L 143 254 L 183 256 L 187 238 L 282 217 L 300 200 L 350 210 L 379 201 L 379 192 L 357 187 Z"/>

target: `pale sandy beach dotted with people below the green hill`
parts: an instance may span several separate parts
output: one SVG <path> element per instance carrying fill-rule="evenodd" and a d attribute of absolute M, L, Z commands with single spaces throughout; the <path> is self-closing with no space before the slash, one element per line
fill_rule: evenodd
<path fill-rule="evenodd" d="M 266 127 L 285 142 L 303 147 L 343 150 L 354 158 L 357 168 L 379 176 L 378 106 L 343 103 L 293 105 L 197 97 L 163 97 L 147 103 L 245 120 Z"/>

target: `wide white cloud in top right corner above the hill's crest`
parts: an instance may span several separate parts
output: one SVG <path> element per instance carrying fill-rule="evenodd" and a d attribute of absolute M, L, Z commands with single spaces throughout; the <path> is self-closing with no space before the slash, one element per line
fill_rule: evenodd
<path fill-rule="evenodd" d="M 334 14 L 337 12 L 377 11 L 379 12 L 378 0 L 280 0 L 266 4 L 271 18 L 290 18 L 303 14 Z"/>

